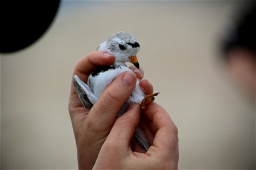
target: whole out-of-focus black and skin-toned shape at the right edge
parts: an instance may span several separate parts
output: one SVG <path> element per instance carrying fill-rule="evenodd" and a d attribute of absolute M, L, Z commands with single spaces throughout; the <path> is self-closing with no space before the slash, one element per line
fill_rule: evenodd
<path fill-rule="evenodd" d="M 248 1 L 245 1 L 248 3 Z M 253 96 L 255 103 L 256 1 L 250 1 L 233 27 L 226 29 L 222 52 L 229 70 Z"/>

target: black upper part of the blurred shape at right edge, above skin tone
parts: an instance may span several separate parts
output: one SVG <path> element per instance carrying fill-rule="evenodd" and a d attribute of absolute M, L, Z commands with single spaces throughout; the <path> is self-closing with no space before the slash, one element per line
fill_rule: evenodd
<path fill-rule="evenodd" d="M 256 53 L 256 1 L 244 2 L 247 7 L 238 12 L 239 16 L 233 20 L 233 27 L 228 28 L 229 32 L 222 37 L 224 54 L 235 48 L 245 48 Z"/>

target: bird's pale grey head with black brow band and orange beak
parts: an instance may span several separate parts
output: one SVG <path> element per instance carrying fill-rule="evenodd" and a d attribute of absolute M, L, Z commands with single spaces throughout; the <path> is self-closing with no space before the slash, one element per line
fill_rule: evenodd
<path fill-rule="evenodd" d="M 104 43 L 105 48 L 115 56 L 115 62 L 130 61 L 139 69 L 139 62 L 136 56 L 140 50 L 139 43 L 129 33 L 123 31 L 116 32 Z"/>

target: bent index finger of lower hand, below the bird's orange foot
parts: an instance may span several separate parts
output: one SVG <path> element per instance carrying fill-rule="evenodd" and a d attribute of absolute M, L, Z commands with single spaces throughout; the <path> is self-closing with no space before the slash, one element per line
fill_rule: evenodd
<path fill-rule="evenodd" d="M 158 104 L 152 102 L 145 114 L 157 129 L 153 145 L 161 150 L 172 150 L 177 146 L 177 128 L 168 113 Z"/>

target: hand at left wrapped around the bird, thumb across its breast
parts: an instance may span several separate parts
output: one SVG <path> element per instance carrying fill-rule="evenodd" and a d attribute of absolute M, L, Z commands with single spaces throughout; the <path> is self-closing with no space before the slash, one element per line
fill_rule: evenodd
<path fill-rule="evenodd" d="M 77 63 L 73 75 L 76 74 L 87 82 L 88 76 L 97 66 L 111 65 L 114 59 L 114 56 L 108 53 L 99 51 L 89 53 Z M 134 72 L 127 71 L 115 78 L 91 109 L 82 106 L 73 82 L 71 83 L 68 109 L 76 139 L 79 169 L 92 169 L 119 109 L 131 95 L 136 79 L 143 78 L 142 69 L 138 70 L 135 66 L 131 66 L 130 69 Z M 147 80 L 142 80 L 139 85 L 146 95 L 152 94 L 153 87 Z M 136 142 L 133 142 L 133 145 L 142 150 Z"/>

